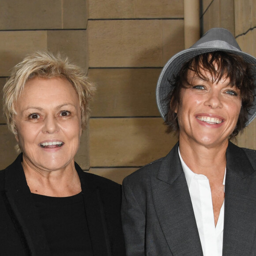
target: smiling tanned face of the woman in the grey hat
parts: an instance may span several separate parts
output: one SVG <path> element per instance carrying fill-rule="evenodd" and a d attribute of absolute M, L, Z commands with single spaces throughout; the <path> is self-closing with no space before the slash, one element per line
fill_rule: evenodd
<path fill-rule="evenodd" d="M 181 101 L 175 111 L 179 139 L 189 144 L 216 147 L 228 143 L 236 127 L 241 110 L 240 90 L 231 87 L 225 76 L 216 81 L 209 72 L 201 72 L 207 79 L 189 70 L 188 83 L 191 85 L 181 89 Z"/>

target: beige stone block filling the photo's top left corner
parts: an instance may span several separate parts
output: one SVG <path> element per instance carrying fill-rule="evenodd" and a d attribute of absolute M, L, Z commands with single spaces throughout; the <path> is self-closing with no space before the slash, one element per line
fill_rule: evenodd
<path fill-rule="evenodd" d="M 61 0 L 1 0 L 0 30 L 60 29 Z"/>

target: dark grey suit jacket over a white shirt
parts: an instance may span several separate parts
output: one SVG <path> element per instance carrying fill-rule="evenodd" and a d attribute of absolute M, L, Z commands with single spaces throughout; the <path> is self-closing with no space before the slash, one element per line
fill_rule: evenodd
<path fill-rule="evenodd" d="M 226 160 L 223 256 L 256 256 L 256 151 Z M 124 179 L 121 216 L 127 256 L 203 256 L 178 143 Z"/>

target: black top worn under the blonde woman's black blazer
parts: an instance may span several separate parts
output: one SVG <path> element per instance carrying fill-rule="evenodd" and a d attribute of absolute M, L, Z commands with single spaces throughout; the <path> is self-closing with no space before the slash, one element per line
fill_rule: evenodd
<path fill-rule="evenodd" d="M 33 194 L 53 256 L 92 256 L 83 194 L 52 197 Z"/>

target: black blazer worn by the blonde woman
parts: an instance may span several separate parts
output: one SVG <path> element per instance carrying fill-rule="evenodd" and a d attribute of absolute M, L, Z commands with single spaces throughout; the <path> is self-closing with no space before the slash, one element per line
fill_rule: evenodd
<path fill-rule="evenodd" d="M 0 255 L 50 256 L 44 230 L 26 184 L 22 154 L 0 171 Z M 121 186 L 75 163 L 94 256 L 124 256 L 120 221 Z"/>

